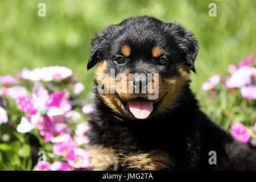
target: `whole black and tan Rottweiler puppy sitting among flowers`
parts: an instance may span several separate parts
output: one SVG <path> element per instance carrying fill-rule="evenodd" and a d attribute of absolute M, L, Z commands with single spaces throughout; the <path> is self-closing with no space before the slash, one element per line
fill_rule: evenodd
<path fill-rule="evenodd" d="M 95 36 L 88 62 L 88 69 L 98 62 L 96 111 L 89 119 L 92 169 L 256 169 L 256 151 L 214 125 L 189 89 L 197 49 L 179 24 L 148 16 L 123 20 Z M 116 79 L 119 73 L 143 76 L 123 81 Z M 125 86 L 141 88 L 122 92 Z M 154 93 L 143 93 L 149 86 Z M 217 164 L 209 164 L 210 151 Z"/>

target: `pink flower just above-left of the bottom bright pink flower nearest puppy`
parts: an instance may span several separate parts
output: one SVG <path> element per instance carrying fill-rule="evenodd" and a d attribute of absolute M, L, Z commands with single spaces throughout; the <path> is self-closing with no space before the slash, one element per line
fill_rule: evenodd
<path fill-rule="evenodd" d="M 71 141 L 63 142 L 63 143 L 56 143 L 53 146 L 53 153 L 59 156 L 66 156 L 72 149 L 75 147 L 75 144 Z"/>

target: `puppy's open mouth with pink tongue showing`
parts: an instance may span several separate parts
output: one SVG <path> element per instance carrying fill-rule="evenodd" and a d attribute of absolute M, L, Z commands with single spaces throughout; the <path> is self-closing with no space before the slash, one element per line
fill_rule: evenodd
<path fill-rule="evenodd" d="M 135 118 L 146 119 L 153 110 L 153 103 L 145 99 L 134 99 L 129 101 L 129 109 Z"/>

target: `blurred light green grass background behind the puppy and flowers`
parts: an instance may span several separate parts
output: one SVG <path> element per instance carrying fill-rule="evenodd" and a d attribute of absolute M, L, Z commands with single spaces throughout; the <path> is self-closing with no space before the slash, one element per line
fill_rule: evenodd
<path fill-rule="evenodd" d="M 46 17 L 38 16 L 38 4 L 46 3 Z M 210 17 L 209 3 L 217 5 Z M 92 89 L 93 70 L 86 71 L 90 40 L 109 24 L 131 16 L 149 15 L 164 22 L 177 22 L 199 40 L 196 75 L 192 90 L 214 74 L 255 54 L 256 1 L 158 1 L 158 0 L 65 0 L 0 1 L 0 75 L 15 74 L 49 65 L 65 65 L 78 73 Z"/>

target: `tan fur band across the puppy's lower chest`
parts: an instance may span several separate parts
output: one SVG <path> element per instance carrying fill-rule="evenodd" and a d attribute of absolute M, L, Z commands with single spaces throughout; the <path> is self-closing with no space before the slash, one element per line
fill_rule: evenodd
<path fill-rule="evenodd" d="M 92 170 L 171 170 L 170 156 L 162 150 L 126 152 L 99 145 L 89 150 Z"/>

